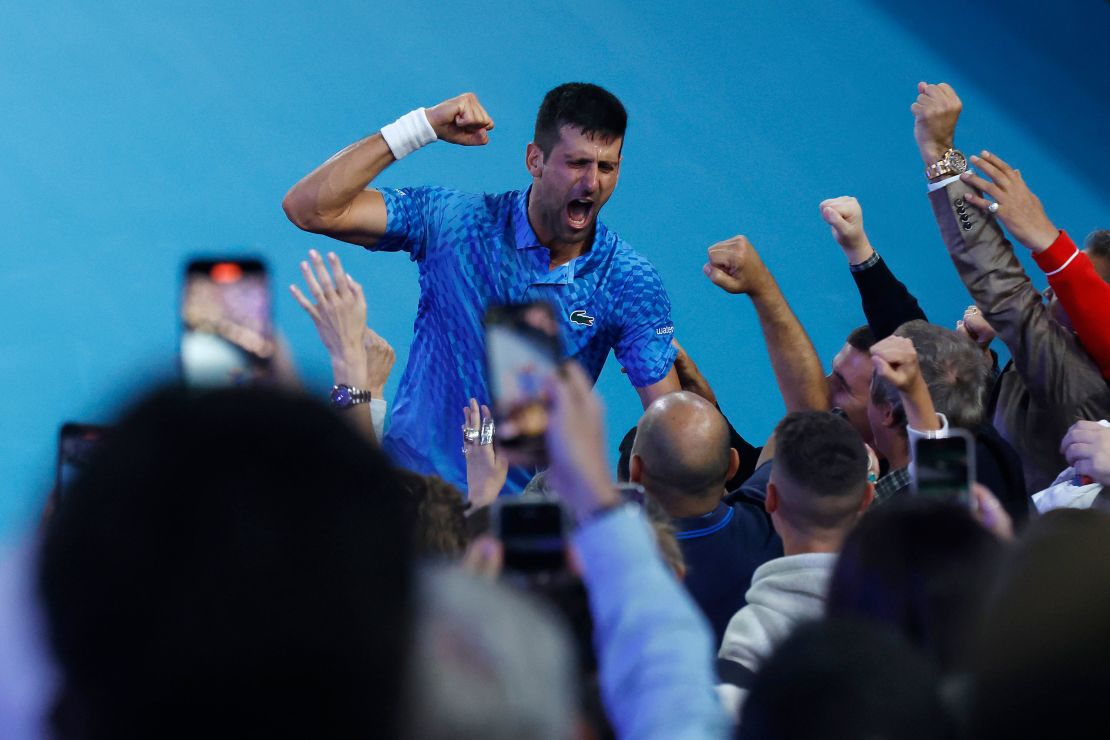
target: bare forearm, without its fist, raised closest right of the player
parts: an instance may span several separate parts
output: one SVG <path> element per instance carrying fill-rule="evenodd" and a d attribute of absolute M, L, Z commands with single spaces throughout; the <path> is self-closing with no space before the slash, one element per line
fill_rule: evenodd
<path fill-rule="evenodd" d="M 759 317 L 786 410 L 827 409 L 825 371 L 817 351 L 778 284 L 771 280 L 766 290 L 751 294 L 751 304 Z"/>

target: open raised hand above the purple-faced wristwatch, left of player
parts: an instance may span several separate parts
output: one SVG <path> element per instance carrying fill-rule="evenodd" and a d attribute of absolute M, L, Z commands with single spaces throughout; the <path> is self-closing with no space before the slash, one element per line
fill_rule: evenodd
<path fill-rule="evenodd" d="M 343 264 L 334 252 L 327 253 L 334 281 L 319 252 L 311 250 L 309 260 L 311 265 L 301 262 L 301 274 L 315 303 L 309 301 L 296 285 L 289 286 L 290 293 L 316 325 L 316 332 L 332 359 L 335 382 L 351 385 L 364 383 L 366 297 L 362 285 L 343 271 Z"/>

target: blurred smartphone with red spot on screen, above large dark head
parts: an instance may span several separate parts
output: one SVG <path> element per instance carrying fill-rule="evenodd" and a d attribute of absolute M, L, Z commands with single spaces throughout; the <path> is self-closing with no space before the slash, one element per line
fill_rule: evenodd
<path fill-rule="evenodd" d="M 181 291 L 181 325 L 185 385 L 255 385 L 273 379 L 272 301 L 261 260 L 191 260 Z"/>

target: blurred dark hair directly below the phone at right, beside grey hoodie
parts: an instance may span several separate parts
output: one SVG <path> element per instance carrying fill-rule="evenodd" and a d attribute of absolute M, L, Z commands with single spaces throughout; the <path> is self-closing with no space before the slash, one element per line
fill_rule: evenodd
<path fill-rule="evenodd" d="M 888 625 L 946 673 L 967 670 L 1002 554 L 967 506 L 899 497 L 845 539 L 826 614 Z"/>

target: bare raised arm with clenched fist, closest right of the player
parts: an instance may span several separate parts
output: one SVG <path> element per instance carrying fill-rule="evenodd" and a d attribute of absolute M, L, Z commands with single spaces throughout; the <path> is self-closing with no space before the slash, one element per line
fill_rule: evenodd
<path fill-rule="evenodd" d="M 825 371 L 817 351 L 747 237 L 734 236 L 710 246 L 704 272 L 726 293 L 751 298 L 787 413 L 828 409 Z"/>

